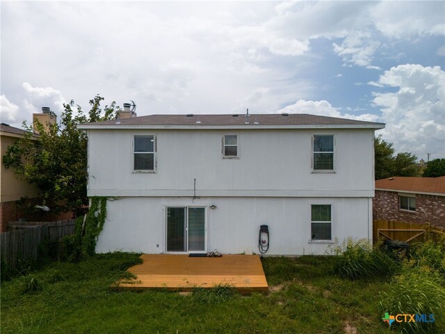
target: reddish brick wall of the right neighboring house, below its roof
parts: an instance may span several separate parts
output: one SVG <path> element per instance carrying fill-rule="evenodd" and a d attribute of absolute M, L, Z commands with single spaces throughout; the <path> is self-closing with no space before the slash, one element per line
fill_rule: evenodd
<path fill-rule="evenodd" d="M 373 198 L 373 218 L 407 223 L 430 223 L 445 228 L 445 196 L 416 194 L 416 211 L 399 209 L 398 193 L 376 190 Z"/>

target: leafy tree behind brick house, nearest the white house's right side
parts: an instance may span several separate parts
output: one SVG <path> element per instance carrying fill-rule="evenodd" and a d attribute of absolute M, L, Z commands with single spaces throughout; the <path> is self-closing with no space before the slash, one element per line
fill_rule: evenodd
<path fill-rule="evenodd" d="M 391 176 L 417 176 L 417 157 L 409 152 L 401 152 L 396 156 L 392 143 L 382 139 L 382 136 L 374 138 L 375 154 L 375 180 L 385 179 Z"/>

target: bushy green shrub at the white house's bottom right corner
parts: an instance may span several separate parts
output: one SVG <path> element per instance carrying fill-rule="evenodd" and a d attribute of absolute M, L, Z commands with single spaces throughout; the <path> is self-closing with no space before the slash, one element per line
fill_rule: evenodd
<path fill-rule="evenodd" d="M 348 240 L 346 248 L 337 247 L 335 251 L 337 259 L 334 262 L 334 273 L 341 278 L 357 280 L 384 277 L 393 274 L 399 267 L 385 250 L 373 248 L 367 241 L 354 244 Z"/>

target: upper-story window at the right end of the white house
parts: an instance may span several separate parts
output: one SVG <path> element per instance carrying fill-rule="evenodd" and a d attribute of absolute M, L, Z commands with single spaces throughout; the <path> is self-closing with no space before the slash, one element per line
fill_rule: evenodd
<path fill-rule="evenodd" d="M 314 135 L 312 137 L 313 170 L 334 170 L 334 136 Z"/>

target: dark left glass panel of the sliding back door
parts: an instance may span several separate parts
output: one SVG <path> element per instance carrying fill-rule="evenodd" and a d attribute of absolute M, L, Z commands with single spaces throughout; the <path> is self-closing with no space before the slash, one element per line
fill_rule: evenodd
<path fill-rule="evenodd" d="M 185 252 L 187 245 L 186 235 L 186 208 L 168 207 L 167 251 Z"/>

